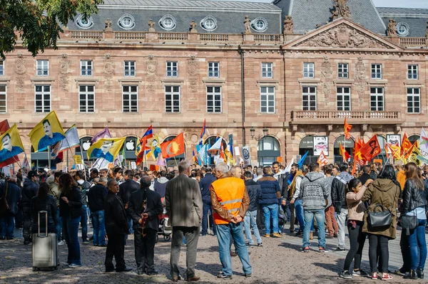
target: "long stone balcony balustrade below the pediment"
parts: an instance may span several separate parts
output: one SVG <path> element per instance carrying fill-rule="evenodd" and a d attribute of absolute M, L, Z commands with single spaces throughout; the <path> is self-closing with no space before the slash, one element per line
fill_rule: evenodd
<path fill-rule="evenodd" d="M 360 124 L 401 124 L 401 112 L 358 112 L 358 111 L 324 111 L 324 110 L 293 110 L 292 124 L 343 124 L 348 122 Z"/>

